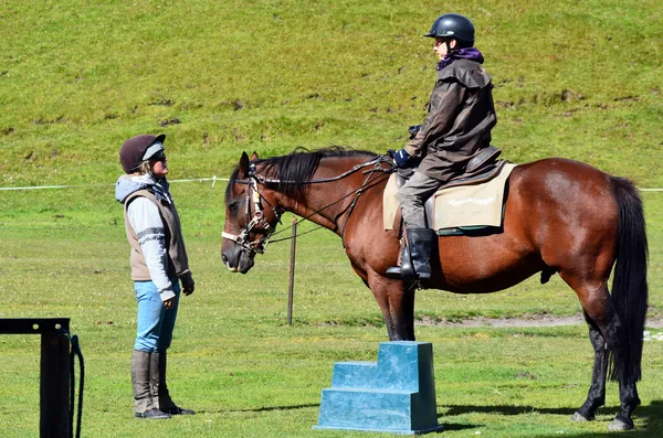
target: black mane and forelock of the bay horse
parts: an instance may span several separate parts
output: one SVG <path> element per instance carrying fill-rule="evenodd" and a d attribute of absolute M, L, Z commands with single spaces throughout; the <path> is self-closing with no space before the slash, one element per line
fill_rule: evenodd
<path fill-rule="evenodd" d="M 373 152 L 341 146 L 332 146 L 313 151 L 298 147 L 287 156 L 259 159 L 255 160 L 254 163 L 256 167 L 261 168 L 261 174 L 273 180 L 278 180 L 277 183 L 274 183 L 277 192 L 285 194 L 288 197 L 301 199 L 307 186 L 305 183 L 311 181 L 322 159 L 357 156 L 366 156 L 369 159 L 377 157 Z M 232 185 L 238 180 L 238 174 L 239 167 L 234 169 L 230 177 L 225 192 L 227 199 Z"/>

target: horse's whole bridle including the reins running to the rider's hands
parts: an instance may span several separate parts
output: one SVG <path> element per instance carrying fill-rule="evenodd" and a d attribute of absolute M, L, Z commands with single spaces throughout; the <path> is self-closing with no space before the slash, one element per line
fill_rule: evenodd
<path fill-rule="evenodd" d="M 382 163 L 389 163 L 391 164 L 391 168 L 389 169 L 385 169 L 381 167 Z M 357 164 L 355 165 L 352 169 L 333 177 L 333 178 L 325 178 L 325 179 L 319 179 L 319 180 L 312 180 L 312 181 L 305 181 L 305 182 L 299 182 L 299 184 L 315 184 L 315 183 L 324 183 L 324 182 L 332 182 L 332 181 L 337 181 L 337 180 L 341 180 L 364 168 L 370 167 L 372 165 L 373 168 L 370 170 L 365 171 L 364 173 L 368 173 L 366 181 L 364 182 L 364 184 L 356 190 L 352 190 L 350 193 L 346 194 L 345 196 L 343 196 L 341 199 L 339 199 L 338 201 L 335 201 L 322 209 L 319 209 L 316 212 L 313 212 L 311 215 L 304 217 L 303 220 L 308 220 L 311 216 L 314 216 L 316 214 L 318 214 L 320 211 L 345 200 L 346 197 L 355 194 L 355 200 L 352 201 L 352 203 L 349 205 L 348 209 L 349 213 L 351 213 L 351 211 L 354 210 L 359 196 L 361 195 L 361 193 L 364 192 L 365 189 L 367 189 L 368 182 L 370 181 L 370 175 L 376 172 L 376 171 L 381 171 L 385 173 L 391 173 L 394 170 L 393 167 L 393 161 L 385 156 L 380 156 L 373 160 L 370 160 L 368 162 L 361 163 L 361 164 Z M 263 214 L 263 209 L 262 209 L 262 204 L 261 204 L 261 200 L 264 201 L 267 205 L 270 205 L 270 207 L 272 207 L 272 211 L 274 212 L 274 216 L 275 216 L 275 223 L 281 223 L 281 216 L 284 213 L 284 210 L 282 209 L 277 209 L 275 206 L 273 206 L 270 201 L 267 201 L 262 194 L 260 194 L 259 190 L 257 190 L 257 185 L 260 184 L 275 184 L 275 183 L 295 183 L 292 181 L 282 181 L 282 180 L 277 180 L 277 179 L 270 179 L 270 178 L 265 178 L 265 177 L 261 177 L 256 174 L 256 170 L 255 170 L 255 164 L 251 163 L 249 167 L 249 175 L 246 178 L 246 180 L 236 180 L 234 181 L 234 183 L 239 183 L 239 184 L 246 184 L 246 209 L 245 209 L 245 215 L 246 215 L 246 225 L 244 227 L 244 229 L 238 235 L 238 234 L 230 234 L 230 233 L 225 233 L 222 232 L 221 233 L 221 237 L 223 238 L 228 238 L 232 242 L 234 242 L 236 245 L 241 246 L 242 249 L 250 256 L 253 257 L 256 254 L 264 254 L 265 252 L 265 247 L 267 246 L 267 243 L 270 241 L 270 237 L 272 237 L 272 234 L 274 234 L 276 232 L 276 226 L 270 224 L 267 221 L 265 221 L 264 218 L 264 214 Z M 254 205 L 254 213 L 253 216 L 251 216 L 251 203 L 253 203 Z M 345 212 L 345 211 L 344 211 Z M 348 213 L 348 216 L 349 216 Z M 251 217 L 251 220 L 249 220 L 249 217 Z M 349 220 L 349 217 L 348 217 Z M 346 221 L 347 223 L 347 221 Z M 263 237 L 256 238 L 255 241 L 250 241 L 249 239 L 249 234 L 251 233 L 252 229 L 257 228 L 261 229 L 262 232 L 265 233 L 265 235 Z M 283 231 L 283 229 L 282 229 Z M 345 229 L 344 233 L 345 234 Z M 278 241 L 276 241 L 278 242 Z M 344 242 L 344 247 L 345 247 L 345 242 Z"/>

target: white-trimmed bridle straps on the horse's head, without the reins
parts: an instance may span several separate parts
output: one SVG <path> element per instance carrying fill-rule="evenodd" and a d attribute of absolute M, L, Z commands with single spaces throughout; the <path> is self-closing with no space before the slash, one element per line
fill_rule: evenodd
<path fill-rule="evenodd" d="M 242 250 L 244 253 L 253 257 L 256 254 L 263 254 L 265 252 L 265 247 L 267 246 L 272 233 L 276 231 L 276 228 L 272 224 L 265 221 L 265 216 L 263 214 L 263 209 L 261 205 L 261 199 L 264 200 L 272 207 L 272 210 L 274 211 L 274 215 L 276 216 L 276 222 L 281 222 L 282 213 L 280 213 L 277 209 L 270 204 L 270 202 L 257 191 L 259 179 L 255 175 L 254 164 L 251 164 L 251 169 L 249 171 L 249 179 L 244 181 L 240 180 L 236 182 L 246 184 L 246 226 L 239 235 L 222 232 L 221 236 L 223 238 L 228 238 L 234 242 L 236 245 L 242 247 Z M 253 217 L 251 217 L 251 203 L 253 203 L 254 205 Z M 251 217 L 251 220 L 249 220 L 249 217 Z M 249 233 L 251 233 L 251 231 L 254 228 L 266 232 L 266 236 L 256 238 L 255 241 L 250 241 Z"/>

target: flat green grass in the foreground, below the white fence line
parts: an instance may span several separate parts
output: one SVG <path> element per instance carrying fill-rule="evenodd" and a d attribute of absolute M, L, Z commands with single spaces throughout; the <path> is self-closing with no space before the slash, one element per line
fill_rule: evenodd
<path fill-rule="evenodd" d="M 297 243 L 294 324 L 286 324 L 290 245 L 274 244 L 245 276 L 220 261 L 223 184 L 173 184 L 185 223 L 197 291 L 182 299 L 171 349 L 171 386 L 177 400 L 199 410 L 191 418 L 145 424 L 131 418 L 129 360 L 135 301 L 128 278 L 128 245 L 122 209 L 112 186 L 94 194 L 80 189 L 2 193 L 0 216 L 0 318 L 72 319 L 86 359 L 85 436 L 292 437 L 348 436 L 313 431 L 320 389 L 334 362 L 376 361 L 387 340 L 369 290 L 327 231 Z M 650 273 L 660 270 L 657 217 L 663 201 L 644 193 L 650 225 Z M 96 201 L 95 201 L 96 200 Z M 290 223 L 286 217 L 284 223 Z M 302 231 L 309 229 L 303 226 Z M 660 317 L 660 275 L 650 274 L 650 316 Z M 421 291 L 419 318 L 463 319 L 575 314 L 573 292 L 558 278 L 536 278 L 503 292 L 456 296 Z M 659 332 L 660 330 L 653 330 Z M 448 436 L 482 431 L 491 437 L 572 437 L 603 432 L 617 412 L 617 386 L 598 421 L 568 420 L 587 393 L 592 353 L 582 325 L 550 329 L 455 329 L 418 325 L 434 349 L 438 413 Z M 39 339 L 0 336 L 0 436 L 39 430 Z M 634 435 L 655 437 L 661 426 L 663 344 L 648 342 L 643 406 Z M 368 434 L 368 436 L 373 436 Z M 375 435 L 378 436 L 378 435 Z"/>

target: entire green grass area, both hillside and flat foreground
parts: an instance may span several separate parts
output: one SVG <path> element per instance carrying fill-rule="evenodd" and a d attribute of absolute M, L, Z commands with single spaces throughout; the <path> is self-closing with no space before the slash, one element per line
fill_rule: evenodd
<path fill-rule="evenodd" d="M 228 177 L 244 150 L 400 147 L 434 77 L 421 35 L 445 11 L 476 24 L 506 158 L 578 159 L 663 186 L 663 12 L 653 0 L 0 1 L 0 189 L 72 185 L 0 191 L 0 318 L 71 318 L 86 359 L 84 436 L 373 436 L 311 429 L 334 362 L 375 361 L 387 340 L 338 237 L 298 241 L 288 327 L 287 243 L 270 246 L 248 276 L 221 264 L 222 182 L 172 185 L 197 291 L 180 307 L 170 386 L 199 414 L 133 418 L 136 309 L 113 200 L 117 149 L 165 132 L 170 178 L 188 179 Z M 648 314 L 661 320 L 663 193 L 642 195 Z M 433 343 L 444 436 L 608 436 L 613 383 L 597 421 L 568 419 L 590 381 L 585 327 L 430 324 L 580 311 L 558 277 L 486 296 L 420 292 L 417 335 Z M 2 335 L 0 352 L 0 437 L 36 437 L 39 338 Z M 661 436 L 662 372 L 663 342 L 648 341 L 629 436 Z"/>

